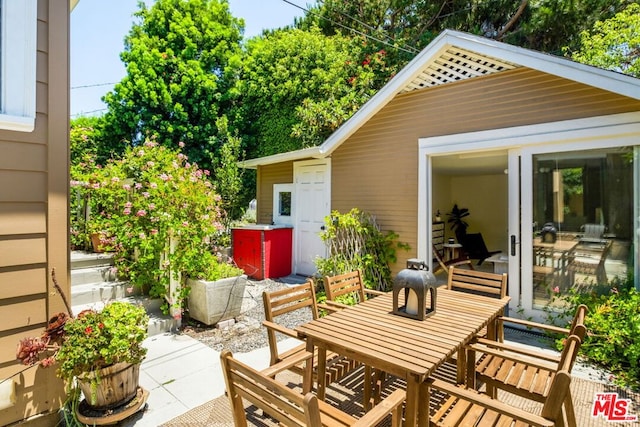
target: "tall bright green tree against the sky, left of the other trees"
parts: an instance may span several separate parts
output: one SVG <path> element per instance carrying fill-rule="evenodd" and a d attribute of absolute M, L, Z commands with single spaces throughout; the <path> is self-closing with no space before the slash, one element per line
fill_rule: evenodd
<path fill-rule="evenodd" d="M 127 75 L 104 97 L 105 134 L 115 147 L 153 136 L 210 167 L 216 119 L 230 64 L 239 59 L 243 21 L 226 0 L 139 2 L 121 59 Z"/>

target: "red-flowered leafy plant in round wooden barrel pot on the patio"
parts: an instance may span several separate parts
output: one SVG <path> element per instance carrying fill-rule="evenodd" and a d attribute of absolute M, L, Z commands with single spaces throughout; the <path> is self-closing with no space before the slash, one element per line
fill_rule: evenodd
<path fill-rule="evenodd" d="M 68 319 L 55 355 L 58 376 L 69 388 L 77 381 L 91 407 L 113 408 L 131 400 L 147 353 L 142 342 L 148 321 L 144 307 L 126 301 Z"/>

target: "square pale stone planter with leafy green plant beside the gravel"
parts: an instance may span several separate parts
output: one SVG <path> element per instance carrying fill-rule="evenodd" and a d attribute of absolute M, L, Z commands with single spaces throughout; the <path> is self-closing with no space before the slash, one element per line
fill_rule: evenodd
<path fill-rule="evenodd" d="M 187 279 L 189 316 L 205 325 L 215 325 L 240 314 L 247 276 L 230 262 L 207 252 L 205 268 Z"/>

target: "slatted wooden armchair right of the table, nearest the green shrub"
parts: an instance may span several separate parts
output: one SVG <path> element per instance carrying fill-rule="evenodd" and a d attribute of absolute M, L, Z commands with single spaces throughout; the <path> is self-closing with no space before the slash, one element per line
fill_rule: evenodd
<path fill-rule="evenodd" d="M 503 321 L 518 322 L 529 327 L 537 327 L 552 332 L 569 335 L 560 354 L 547 355 L 525 347 L 478 339 L 467 346 L 467 387 L 476 388 L 476 381 L 483 382 L 487 394 L 495 398 L 496 389 L 516 394 L 536 402 L 545 402 L 551 392 L 551 384 L 558 371 L 571 369 L 578 356 L 578 350 L 586 333 L 584 318 L 586 307 L 581 305 L 569 329 L 557 328 L 520 319 L 503 318 Z M 572 342 L 575 341 L 575 342 Z M 480 355 L 476 358 L 476 355 Z M 571 398 L 565 402 L 569 417 L 573 415 Z M 575 422 L 575 419 L 574 419 Z"/>

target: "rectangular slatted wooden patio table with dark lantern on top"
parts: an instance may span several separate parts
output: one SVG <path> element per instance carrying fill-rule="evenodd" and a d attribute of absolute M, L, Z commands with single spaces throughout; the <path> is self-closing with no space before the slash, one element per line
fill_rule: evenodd
<path fill-rule="evenodd" d="M 393 314 L 393 297 L 389 292 L 312 320 L 295 330 L 306 340 L 309 351 L 318 347 L 318 372 L 326 368 L 326 352 L 334 351 L 404 378 L 407 383 L 405 424 L 426 426 L 429 390 L 422 386 L 424 380 L 458 352 L 458 381 L 462 382 L 464 345 L 485 326 L 488 331 L 495 331 L 495 320 L 509 299 L 439 288 L 436 312 L 421 321 Z M 318 398 L 324 400 L 325 376 L 317 377 Z M 311 375 L 307 374 L 306 378 Z"/>

